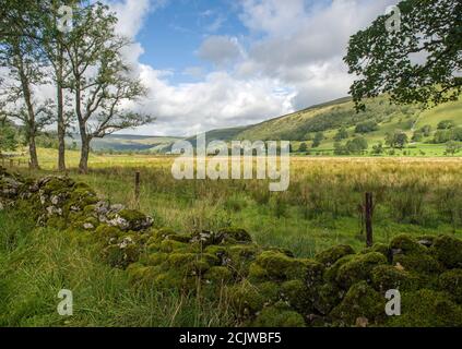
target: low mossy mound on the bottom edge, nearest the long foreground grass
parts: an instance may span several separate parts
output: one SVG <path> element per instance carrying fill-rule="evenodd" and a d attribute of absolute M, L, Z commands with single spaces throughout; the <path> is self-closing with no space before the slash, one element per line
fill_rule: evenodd
<path fill-rule="evenodd" d="M 252 323 L 257 327 L 305 327 L 304 317 L 284 303 L 264 308 Z"/>

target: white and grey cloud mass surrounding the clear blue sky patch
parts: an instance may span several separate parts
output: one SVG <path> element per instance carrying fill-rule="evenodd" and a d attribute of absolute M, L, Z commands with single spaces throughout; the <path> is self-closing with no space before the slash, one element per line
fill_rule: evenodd
<path fill-rule="evenodd" d="M 248 37 L 206 36 L 197 50 L 199 58 L 214 65 L 211 73 L 200 67 L 171 72 L 141 64 L 143 48 L 134 44 L 126 56 L 150 89 L 139 108 L 157 118 L 135 132 L 192 135 L 343 97 L 352 83 L 342 61 L 350 36 L 396 2 L 241 0 L 239 19 Z M 118 31 L 134 38 L 146 13 L 163 4 L 159 0 L 112 2 L 120 20 Z M 214 15 L 212 11 L 201 14 Z M 204 31 L 218 28 L 218 22 Z M 173 74 L 201 81 L 173 84 Z"/>

